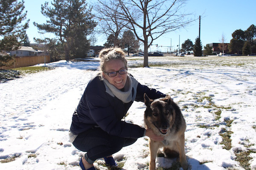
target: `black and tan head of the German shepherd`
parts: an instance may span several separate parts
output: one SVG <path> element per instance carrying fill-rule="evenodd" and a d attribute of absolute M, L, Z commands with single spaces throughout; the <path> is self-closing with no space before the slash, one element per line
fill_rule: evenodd
<path fill-rule="evenodd" d="M 147 106 L 144 115 L 145 124 L 154 125 L 161 134 L 166 135 L 171 122 L 173 122 L 172 119 L 174 119 L 175 110 L 172 107 L 173 100 L 169 95 L 166 95 L 165 98 L 152 100 L 144 94 L 144 102 Z"/>

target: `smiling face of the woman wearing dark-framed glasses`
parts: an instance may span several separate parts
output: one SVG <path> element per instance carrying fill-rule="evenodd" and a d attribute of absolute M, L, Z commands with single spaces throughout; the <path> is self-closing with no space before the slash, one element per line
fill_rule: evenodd
<path fill-rule="evenodd" d="M 105 63 L 105 73 L 110 73 L 112 71 L 119 71 L 125 68 L 125 63 L 120 59 L 112 59 Z M 109 77 L 108 74 L 103 73 L 104 79 L 107 79 L 111 85 L 114 85 L 117 89 L 122 89 L 125 87 L 127 80 L 126 74 L 119 74 L 117 72 L 115 77 Z"/>

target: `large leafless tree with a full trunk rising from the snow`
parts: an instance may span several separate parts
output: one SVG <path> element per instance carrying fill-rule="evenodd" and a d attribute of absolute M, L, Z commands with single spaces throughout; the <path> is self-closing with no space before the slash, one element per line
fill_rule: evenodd
<path fill-rule="evenodd" d="M 119 19 L 129 23 L 144 44 L 144 64 L 148 67 L 148 48 L 154 40 L 170 31 L 187 26 L 193 19 L 182 12 L 186 0 L 114 0 L 120 3 Z"/>

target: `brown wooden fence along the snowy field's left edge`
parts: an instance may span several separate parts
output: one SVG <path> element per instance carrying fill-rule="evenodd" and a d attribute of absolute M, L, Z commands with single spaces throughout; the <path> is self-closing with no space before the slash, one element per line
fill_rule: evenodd
<path fill-rule="evenodd" d="M 26 56 L 26 57 L 15 57 L 14 65 L 9 67 L 2 66 L 0 69 L 10 69 L 10 68 L 18 68 L 18 67 L 26 67 L 31 65 L 36 65 L 40 63 L 48 63 L 51 62 L 50 56 Z"/>

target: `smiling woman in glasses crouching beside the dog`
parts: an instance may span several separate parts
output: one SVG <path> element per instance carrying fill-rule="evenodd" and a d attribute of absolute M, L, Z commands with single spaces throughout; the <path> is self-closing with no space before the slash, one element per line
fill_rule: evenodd
<path fill-rule="evenodd" d="M 108 166 L 116 166 L 112 154 L 140 137 L 163 140 L 152 130 L 121 119 L 134 100 L 144 102 L 144 93 L 151 99 L 166 95 L 141 85 L 127 73 L 127 60 L 121 48 L 103 49 L 99 58 L 102 73 L 88 83 L 73 113 L 69 132 L 70 142 L 87 152 L 79 162 L 82 170 L 95 170 L 93 162 L 99 158 L 104 158 Z"/>

